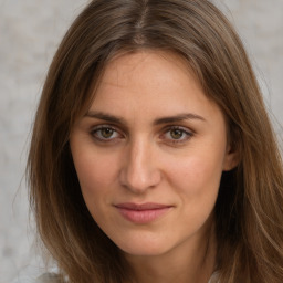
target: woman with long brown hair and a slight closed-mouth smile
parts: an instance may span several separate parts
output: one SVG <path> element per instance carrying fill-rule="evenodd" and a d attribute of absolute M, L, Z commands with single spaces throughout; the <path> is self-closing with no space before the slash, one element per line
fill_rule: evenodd
<path fill-rule="evenodd" d="M 50 67 L 28 177 L 57 282 L 283 282 L 280 153 L 210 1 L 92 1 Z"/>

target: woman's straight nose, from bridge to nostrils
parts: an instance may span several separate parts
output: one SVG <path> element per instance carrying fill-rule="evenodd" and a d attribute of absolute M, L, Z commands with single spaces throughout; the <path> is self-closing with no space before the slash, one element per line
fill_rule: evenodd
<path fill-rule="evenodd" d="M 144 193 L 160 182 L 161 171 L 155 150 L 154 145 L 143 139 L 129 143 L 119 176 L 123 187 L 134 193 Z"/>

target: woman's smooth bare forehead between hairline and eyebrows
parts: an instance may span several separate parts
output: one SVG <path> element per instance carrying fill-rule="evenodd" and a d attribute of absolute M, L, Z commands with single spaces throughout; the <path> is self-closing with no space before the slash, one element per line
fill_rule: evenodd
<path fill-rule="evenodd" d="M 170 52 L 140 51 L 112 60 L 94 93 L 92 111 L 128 118 L 219 111 L 188 63 Z"/>

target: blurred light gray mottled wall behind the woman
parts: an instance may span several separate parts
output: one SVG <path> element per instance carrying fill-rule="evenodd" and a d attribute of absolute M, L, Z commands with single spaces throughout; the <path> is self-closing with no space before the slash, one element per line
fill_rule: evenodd
<path fill-rule="evenodd" d="M 52 55 L 86 2 L 0 0 L 0 283 L 40 265 L 23 178 L 29 134 Z M 242 36 L 282 136 L 283 0 L 214 2 Z"/>

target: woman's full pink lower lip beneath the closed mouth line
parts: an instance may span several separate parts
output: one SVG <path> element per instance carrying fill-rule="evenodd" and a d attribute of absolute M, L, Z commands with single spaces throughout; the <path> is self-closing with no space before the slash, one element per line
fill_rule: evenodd
<path fill-rule="evenodd" d="M 164 216 L 170 207 L 158 208 L 158 209 L 148 209 L 148 210 L 132 210 L 125 208 L 118 208 L 120 214 L 130 222 L 145 224 L 157 220 Z"/>

